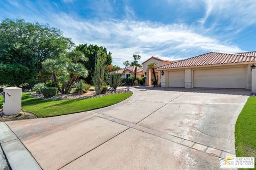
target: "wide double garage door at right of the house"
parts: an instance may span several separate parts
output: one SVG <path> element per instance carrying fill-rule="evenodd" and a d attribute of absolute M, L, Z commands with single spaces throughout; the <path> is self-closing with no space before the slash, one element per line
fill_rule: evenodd
<path fill-rule="evenodd" d="M 246 88 L 246 67 L 195 70 L 194 87 Z"/>

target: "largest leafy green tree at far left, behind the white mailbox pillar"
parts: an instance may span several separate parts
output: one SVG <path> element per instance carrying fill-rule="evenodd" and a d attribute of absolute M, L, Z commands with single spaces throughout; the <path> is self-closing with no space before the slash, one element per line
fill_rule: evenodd
<path fill-rule="evenodd" d="M 47 24 L 25 22 L 22 19 L 4 19 L 0 23 L 0 64 L 20 64 L 28 68 L 29 72 L 18 77 L 18 83 L 45 81 L 45 71 L 42 62 L 47 58 L 59 58 L 65 54 L 74 43 L 69 38 L 63 37 L 62 32 Z M 4 79 L 11 79 L 6 75 Z M 11 82 L 10 82 L 11 85 Z"/>

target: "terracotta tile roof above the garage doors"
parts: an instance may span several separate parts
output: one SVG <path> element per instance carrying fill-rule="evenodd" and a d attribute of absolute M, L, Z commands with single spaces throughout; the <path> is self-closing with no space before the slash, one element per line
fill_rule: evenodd
<path fill-rule="evenodd" d="M 156 69 L 171 69 L 179 67 L 203 66 L 203 65 L 217 65 L 229 63 L 243 63 L 243 62 L 256 62 L 256 57 L 238 55 L 238 54 L 223 54 L 223 53 L 206 53 L 181 60 L 175 63 L 163 65 Z"/>

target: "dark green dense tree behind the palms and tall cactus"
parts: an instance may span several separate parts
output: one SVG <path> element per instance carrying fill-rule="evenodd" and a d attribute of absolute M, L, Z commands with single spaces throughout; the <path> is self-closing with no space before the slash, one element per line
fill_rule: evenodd
<path fill-rule="evenodd" d="M 85 68 L 89 71 L 94 71 L 94 66 L 95 66 L 95 61 L 97 61 L 97 53 L 99 52 L 100 56 L 105 57 L 105 63 L 104 65 L 108 66 L 112 63 L 112 57 L 111 53 L 107 52 L 106 48 L 103 48 L 102 46 L 97 46 L 97 45 L 89 45 L 87 44 L 81 44 L 78 45 L 76 50 L 79 50 L 84 53 L 84 55 L 89 58 L 88 61 L 81 61 L 81 63 L 85 66 Z M 88 83 L 91 83 L 92 80 L 92 75 L 89 75 L 85 81 Z"/>

